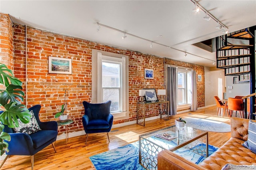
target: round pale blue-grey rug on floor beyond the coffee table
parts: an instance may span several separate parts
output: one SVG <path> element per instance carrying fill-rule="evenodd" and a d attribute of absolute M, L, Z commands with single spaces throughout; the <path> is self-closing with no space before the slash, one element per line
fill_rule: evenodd
<path fill-rule="evenodd" d="M 186 126 L 209 132 L 230 132 L 230 125 L 210 119 L 184 117 Z"/>

